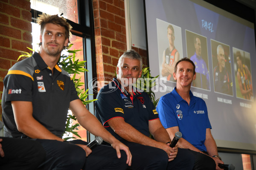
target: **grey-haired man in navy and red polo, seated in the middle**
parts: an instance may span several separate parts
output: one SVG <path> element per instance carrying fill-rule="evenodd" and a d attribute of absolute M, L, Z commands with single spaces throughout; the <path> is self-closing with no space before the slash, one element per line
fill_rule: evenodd
<path fill-rule="evenodd" d="M 142 73 L 142 57 L 134 50 L 126 51 L 119 58 L 116 73 L 117 79 L 99 91 L 95 114 L 113 136 L 129 147 L 133 156 L 130 169 L 192 170 L 192 154 L 169 147 L 171 139 L 149 96 L 133 86 Z"/>

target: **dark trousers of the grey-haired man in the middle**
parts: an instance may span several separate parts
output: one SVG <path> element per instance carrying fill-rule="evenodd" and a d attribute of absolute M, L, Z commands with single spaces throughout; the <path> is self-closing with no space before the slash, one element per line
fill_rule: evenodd
<path fill-rule="evenodd" d="M 195 159 L 187 149 L 178 149 L 177 157 L 168 162 L 167 153 L 159 148 L 122 140 L 132 154 L 129 170 L 192 170 Z"/>

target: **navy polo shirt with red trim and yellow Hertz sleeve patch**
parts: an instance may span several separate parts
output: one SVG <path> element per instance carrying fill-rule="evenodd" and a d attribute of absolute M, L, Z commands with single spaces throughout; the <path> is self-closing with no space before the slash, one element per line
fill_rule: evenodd
<path fill-rule="evenodd" d="M 149 136 L 148 121 L 159 119 L 148 94 L 135 88 L 133 92 L 134 96 L 131 96 L 117 79 L 113 79 L 113 82 L 101 88 L 97 95 L 95 116 L 119 140 L 122 138 L 108 125 L 109 120 L 122 117 L 140 133 Z"/>

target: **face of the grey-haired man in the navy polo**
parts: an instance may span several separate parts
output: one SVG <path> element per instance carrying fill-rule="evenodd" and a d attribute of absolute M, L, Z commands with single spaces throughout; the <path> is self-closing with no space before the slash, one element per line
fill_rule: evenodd
<path fill-rule="evenodd" d="M 120 68 L 116 68 L 117 79 L 122 82 L 124 86 L 133 85 L 134 82 L 141 76 L 140 60 L 123 58 Z"/>

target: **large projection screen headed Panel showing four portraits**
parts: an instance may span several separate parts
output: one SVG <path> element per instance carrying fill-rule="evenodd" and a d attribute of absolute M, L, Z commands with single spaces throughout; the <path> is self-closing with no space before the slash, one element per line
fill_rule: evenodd
<path fill-rule="evenodd" d="M 174 57 L 174 54 L 163 54 L 169 48 L 168 26 L 171 25 L 180 58 L 194 56 L 195 42 L 198 39 L 201 42 L 201 58 L 205 64 L 198 65 L 191 91 L 207 104 L 217 146 L 255 151 L 254 24 L 202 0 L 145 0 L 145 18 L 151 75 L 160 75 L 154 88 L 156 97 L 171 92 L 176 86 L 172 75 L 162 75 L 162 63 L 165 60 L 172 64 L 170 58 Z M 217 57 L 217 48 L 222 49 L 222 58 Z M 244 69 L 239 69 L 240 62 Z M 219 71 L 221 65 L 225 75 Z M 252 93 L 246 95 L 245 90 Z"/>

